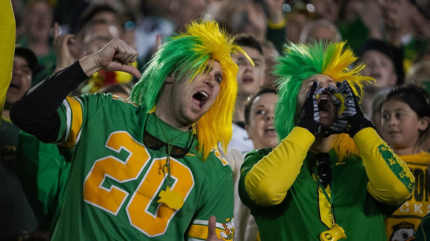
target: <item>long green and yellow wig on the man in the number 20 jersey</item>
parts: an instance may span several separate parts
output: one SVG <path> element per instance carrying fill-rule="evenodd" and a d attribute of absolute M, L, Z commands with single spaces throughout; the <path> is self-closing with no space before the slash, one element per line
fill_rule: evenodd
<path fill-rule="evenodd" d="M 149 113 L 155 110 L 160 90 L 166 78 L 189 78 L 203 73 L 210 59 L 220 63 L 223 81 L 218 97 L 209 111 L 197 122 L 197 139 L 203 159 L 220 142 L 224 151 L 232 136 L 234 103 L 237 96 L 237 64 L 231 54 L 242 52 L 234 38 L 221 30 L 215 21 L 193 21 L 184 33 L 167 37 L 147 63 L 140 81 L 132 89 L 130 98 Z M 247 56 L 247 55 L 246 55 Z"/>

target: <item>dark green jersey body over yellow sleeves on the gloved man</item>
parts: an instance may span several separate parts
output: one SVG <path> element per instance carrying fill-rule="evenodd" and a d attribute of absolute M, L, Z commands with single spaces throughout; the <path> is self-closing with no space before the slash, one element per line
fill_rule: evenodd
<path fill-rule="evenodd" d="M 240 199 L 255 217 L 261 240 L 319 241 L 320 233 L 331 227 L 330 205 L 316 181 L 312 166 L 316 164 L 310 163 L 310 153 L 283 202 L 261 206 L 249 198 L 244 186 L 245 176 L 270 151 L 259 149 L 247 154 L 239 182 Z M 344 229 L 350 241 L 387 240 L 384 214 L 393 212 L 397 206 L 385 205 L 370 196 L 366 187 L 369 178 L 360 158 L 353 156 L 337 163 L 335 152 L 329 154 L 333 176 L 326 192 L 334 195 L 335 223 Z"/>

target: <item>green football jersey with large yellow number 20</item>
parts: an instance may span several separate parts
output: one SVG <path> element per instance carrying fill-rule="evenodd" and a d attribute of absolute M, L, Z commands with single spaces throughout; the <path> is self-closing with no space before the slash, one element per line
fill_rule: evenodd
<path fill-rule="evenodd" d="M 160 199 L 166 148 L 144 145 L 145 120 L 147 133 L 184 148 L 191 131 L 111 94 L 69 96 L 58 113 L 57 144 L 74 154 L 52 240 L 205 240 L 212 215 L 218 237 L 233 238 L 233 172 L 215 148 L 202 161 L 194 141 L 186 156 L 170 158 L 171 190 L 183 206 L 169 208 Z"/>

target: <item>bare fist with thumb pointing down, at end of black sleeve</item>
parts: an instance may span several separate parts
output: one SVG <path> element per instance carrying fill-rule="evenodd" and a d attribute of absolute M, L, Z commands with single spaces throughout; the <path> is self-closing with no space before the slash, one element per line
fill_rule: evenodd
<path fill-rule="evenodd" d="M 79 60 L 83 71 L 87 76 L 100 70 L 122 71 L 140 78 L 140 72 L 133 63 L 137 60 L 138 52 L 121 39 L 114 39 L 98 52 Z"/>

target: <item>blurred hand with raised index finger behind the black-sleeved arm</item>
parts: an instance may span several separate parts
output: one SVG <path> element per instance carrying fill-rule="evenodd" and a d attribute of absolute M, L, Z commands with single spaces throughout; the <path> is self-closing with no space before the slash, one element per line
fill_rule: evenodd
<path fill-rule="evenodd" d="M 70 46 L 76 44 L 74 34 L 59 34 L 58 23 L 54 23 L 54 49 L 57 58 L 57 70 L 63 69 L 71 65 L 75 60 L 74 54 L 71 51 Z M 55 71 L 56 72 L 56 71 Z"/>

